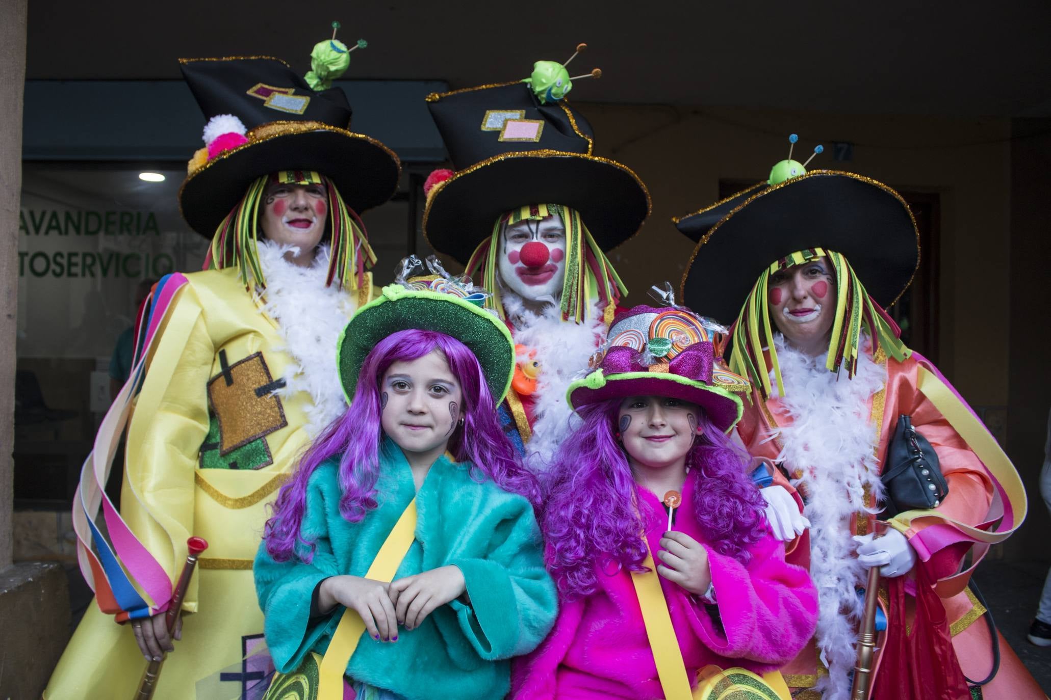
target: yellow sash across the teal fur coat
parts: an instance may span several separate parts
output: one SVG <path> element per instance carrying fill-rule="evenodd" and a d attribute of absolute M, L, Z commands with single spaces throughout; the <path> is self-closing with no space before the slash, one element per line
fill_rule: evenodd
<path fill-rule="evenodd" d="M 401 559 L 409 552 L 415 532 L 416 500 L 413 499 L 394 524 L 394 529 L 387 535 L 365 577 L 390 582 Z M 332 641 L 329 642 L 329 648 L 322 659 L 317 700 L 343 700 L 343 677 L 347 673 L 347 664 L 357 649 L 363 632 L 365 632 L 365 621 L 362 616 L 349 608 L 344 610 L 339 624 L 332 635 Z"/>

